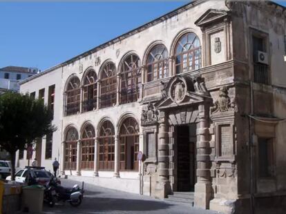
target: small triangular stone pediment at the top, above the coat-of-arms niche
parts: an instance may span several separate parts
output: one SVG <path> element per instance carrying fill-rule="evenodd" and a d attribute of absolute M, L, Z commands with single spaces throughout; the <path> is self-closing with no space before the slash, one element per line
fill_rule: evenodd
<path fill-rule="evenodd" d="M 209 9 L 207 12 L 204 12 L 197 21 L 195 21 L 196 26 L 204 26 L 214 21 L 218 21 L 224 17 L 229 16 L 229 12 L 227 10 L 215 10 Z"/>

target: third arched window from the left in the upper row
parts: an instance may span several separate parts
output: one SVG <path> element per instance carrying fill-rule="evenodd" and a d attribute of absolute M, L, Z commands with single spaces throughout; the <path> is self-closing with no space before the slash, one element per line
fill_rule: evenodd
<path fill-rule="evenodd" d="M 113 106 L 116 104 L 116 70 L 115 64 L 109 62 L 101 72 L 101 95 L 100 108 Z"/>

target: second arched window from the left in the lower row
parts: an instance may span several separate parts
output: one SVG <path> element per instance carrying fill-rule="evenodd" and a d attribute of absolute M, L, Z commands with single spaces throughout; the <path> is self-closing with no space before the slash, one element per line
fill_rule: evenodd
<path fill-rule="evenodd" d="M 95 129 L 91 124 L 82 131 L 82 169 L 93 170 L 95 161 Z"/>

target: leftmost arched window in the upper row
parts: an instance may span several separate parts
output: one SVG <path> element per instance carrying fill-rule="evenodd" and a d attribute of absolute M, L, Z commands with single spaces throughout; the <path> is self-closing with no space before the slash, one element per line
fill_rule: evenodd
<path fill-rule="evenodd" d="M 75 115 L 79 112 L 80 104 L 80 83 L 78 77 L 68 81 L 66 87 L 66 115 Z"/>

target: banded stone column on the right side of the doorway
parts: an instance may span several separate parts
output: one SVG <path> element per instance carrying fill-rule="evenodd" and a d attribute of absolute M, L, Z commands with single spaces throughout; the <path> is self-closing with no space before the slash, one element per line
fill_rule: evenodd
<path fill-rule="evenodd" d="M 211 200 L 211 162 L 209 158 L 209 106 L 198 106 L 197 127 L 197 183 L 195 185 L 195 206 L 209 208 Z"/>

